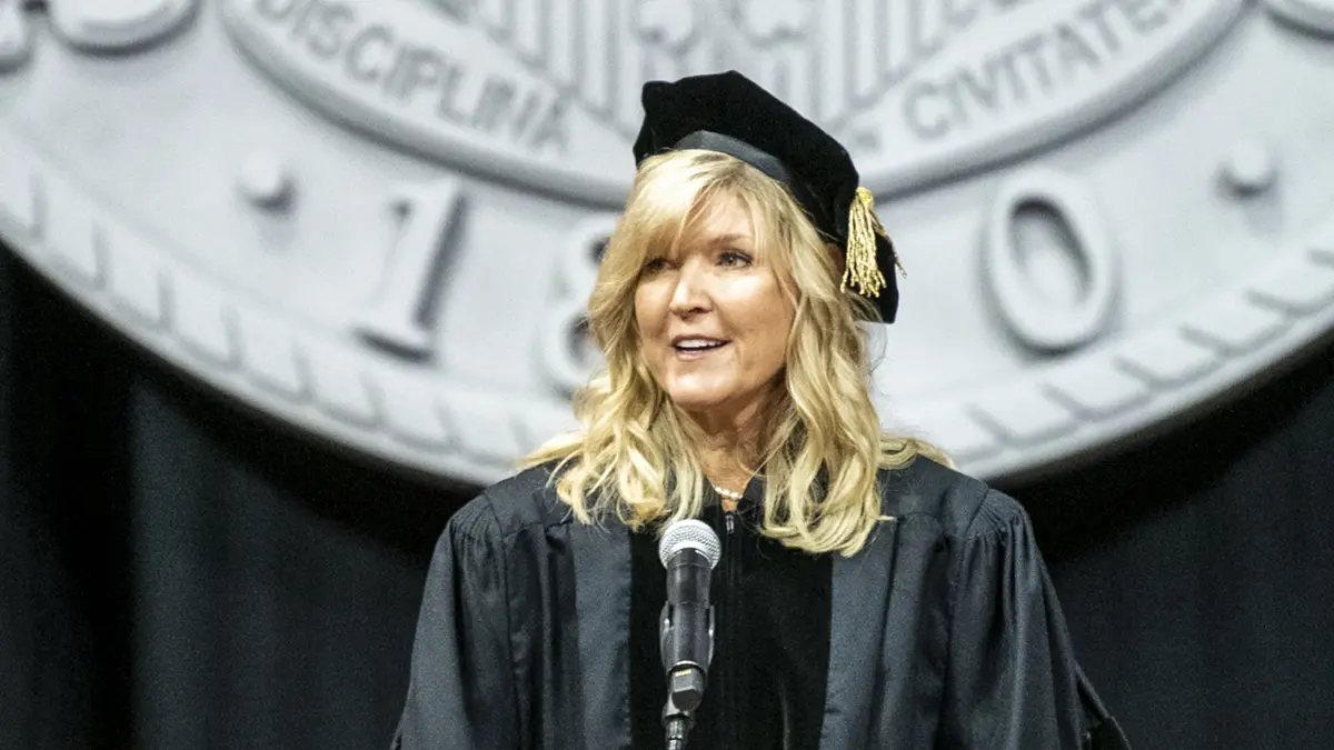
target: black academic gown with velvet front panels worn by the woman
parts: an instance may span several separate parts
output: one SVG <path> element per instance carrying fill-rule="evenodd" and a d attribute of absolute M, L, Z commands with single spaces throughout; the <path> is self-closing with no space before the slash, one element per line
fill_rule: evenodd
<path fill-rule="evenodd" d="M 663 746 L 654 538 L 570 518 L 544 468 L 488 488 L 431 562 L 395 747 Z M 692 750 L 1114 750 L 1023 510 L 918 458 L 882 471 L 856 555 L 758 535 L 758 480 L 712 578 L 716 655 Z"/>

